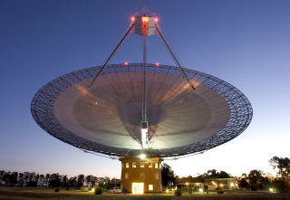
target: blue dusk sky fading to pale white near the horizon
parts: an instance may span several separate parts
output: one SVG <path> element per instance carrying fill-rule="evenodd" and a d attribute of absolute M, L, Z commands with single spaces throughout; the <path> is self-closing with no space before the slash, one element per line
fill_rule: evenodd
<path fill-rule="evenodd" d="M 121 176 L 121 162 L 82 152 L 41 129 L 30 112 L 45 83 L 102 65 L 131 14 L 148 5 L 184 67 L 227 81 L 250 100 L 254 116 L 237 138 L 203 154 L 166 160 L 178 176 L 208 169 L 275 175 L 268 160 L 290 157 L 290 1 L 0 0 L 0 170 Z M 157 35 L 149 62 L 174 65 Z M 141 62 L 132 34 L 111 63 Z"/>

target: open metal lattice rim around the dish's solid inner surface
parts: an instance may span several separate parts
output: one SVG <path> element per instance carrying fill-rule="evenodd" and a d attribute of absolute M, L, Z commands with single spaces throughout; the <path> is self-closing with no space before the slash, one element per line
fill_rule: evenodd
<path fill-rule="evenodd" d="M 73 145 L 77 148 L 82 148 L 86 151 L 92 151 L 108 155 L 110 157 L 132 157 L 140 154 L 139 149 L 114 148 L 99 143 L 92 142 L 88 139 L 81 138 L 73 134 L 73 132 L 65 129 L 62 124 L 55 118 L 53 114 L 53 105 L 58 95 L 60 95 L 68 87 L 80 81 L 92 79 L 95 74 L 100 71 L 100 66 L 73 71 L 65 74 L 53 81 L 48 82 L 37 91 L 31 103 L 31 112 L 39 126 L 55 138 L 61 139 L 63 142 Z M 203 139 L 197 143 L 189 144 L 178 148 L 162 148 L 148 149 L 148 157 L 180 157 L 197 152 L 203 152 L 209 148 L 215 148 L 232 138 L 236 138 L 249 125 L 253 110 L 247 97 L 234 86 L 222 81 L 209 74 L 184 69 L 190 81 L 198 81 L 201 84 L 208 86 L 210 89 L 216 90 L 226 101 L 230 108 L 230 118 L 224 129 L 218 131 L 212 137 Z M 130 64 L 111 64 L 102 71 L 102 75 L 121 72 L 141 72 L 142 63 Z M 182 77 L 183 74 L 178 67 L 148 64 L 148 72 L 171 74 Z"/>

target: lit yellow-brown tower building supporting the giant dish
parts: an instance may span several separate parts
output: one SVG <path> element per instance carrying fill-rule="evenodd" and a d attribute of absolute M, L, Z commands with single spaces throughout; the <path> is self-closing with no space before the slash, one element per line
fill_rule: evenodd
<path fill-rule="evenodd" d="M 121 190 L 132 194 L 162 192 L 160 157 L 121 157 Z"/>

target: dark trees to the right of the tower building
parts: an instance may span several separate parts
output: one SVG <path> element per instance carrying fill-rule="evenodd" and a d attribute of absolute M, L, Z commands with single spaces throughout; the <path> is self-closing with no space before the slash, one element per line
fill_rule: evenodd
<path fill-rule="evenodd" d="M 251 189 L 275 189 L 279 192 L 290 191 L 290 158 L 272 157 L 269 164 L 276 170 L 276 176 L 264 173 L 262 170 L 253 169 L 248 174 L 236 176 L 240 188 Z M 208 179 L 233 178 L 225 171 L 216 169 L 208 170 L 206 173 L 198 176 L 179 177 L 166 163 L 161 167 L 162 186 L 168 187 L 170 184 L 177 183 L 205 183 Z"/>

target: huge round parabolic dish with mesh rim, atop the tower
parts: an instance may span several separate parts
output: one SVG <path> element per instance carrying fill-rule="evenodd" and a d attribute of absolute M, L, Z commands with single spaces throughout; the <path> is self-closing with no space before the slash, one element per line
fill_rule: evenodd
<path fill-rule="evenodd" d="M 100 66 L 48 82 L 32 100 L 34 120 L 49 134 L 109 156 L 140 155 L 142 64 Z M 249 125 L 253 110 L 234 86 L 203 72 L 148 64 L 147 157 L 179 157 L 217 147 Z"/>

